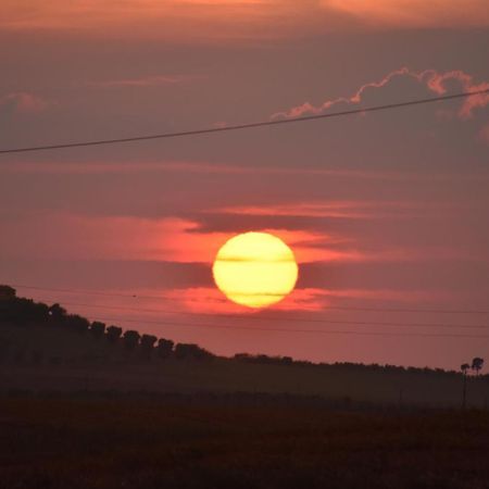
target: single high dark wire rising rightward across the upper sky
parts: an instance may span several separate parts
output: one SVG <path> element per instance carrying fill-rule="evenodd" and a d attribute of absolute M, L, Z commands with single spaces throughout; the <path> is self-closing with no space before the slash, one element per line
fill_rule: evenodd
<path fill-rule="evenodd" d="M 131 136 L 126 138 L 114 138 L 114 139 L 98 139 L 98 140 L 89 140 L 89 141 L 75 141 L 75 142 L 66 142 L 66 143 L 53 143 L 53 145 L 42 145 L 42 146 L 30 146 L 23 148 L 7 148 L 0 150 L 0 154 L 12 154 L 12 153 L 26 153 L 34 151 L 48 151 L 48 150 L 60 150 L 67 148 L 86 148 L 91 146 L 105 146 L 105 145 L 120 145 L 125 142 L 137 142 L 137 141 L 149 141 L 154 139 L 171 139 L 171 138 L 181 138 L 181 137 L 190 137 L 190 136 L 204 136 L 215 133 L 230 133 L 236 130 L 244 130 L 244 129 L 253 129 L 260 127 L 268 127 L 268 126 L 278 126 L 285 124 L 296 124 L 308 121 L 318 121 L 324 118 L 334 118 L 334 117 L 342 117 L 348 115 L 355 114 L 364 114 L 366 112 L 379 112 L 387 111 L 392 109 L 401 109 L 413 105 L 422 105 L 426 103 L 441 102 L 448 100 L 455 100 L 467 98 L 477 95 L 486 95 L 489 93 L 489 89 L 454 93 L 449 96 L 441 97 L 431 97 L 426 99 L 417 99 L 410 100 L 404 102 L 396 102 L 396 103 L 387 103 L 383 105 L 372 105 L 363 109 L 351 109 L 341 112 L 330 112 L 327 114 L 317 114 L 317 115 L 308 115 L 303 117 L 294 117 L 294 118 L 285 118 L 279 121 L 260 121 L 255 123 L 249 124 L 238 124 L 233 126 L 225 127 L 208 127 L 203 129 L 192 129 L 192 130 L 184 130 L 179 133 L 163 133 L 163 134 L 153 134 L 153 135 L 141 135 L 141 136 Z"/>

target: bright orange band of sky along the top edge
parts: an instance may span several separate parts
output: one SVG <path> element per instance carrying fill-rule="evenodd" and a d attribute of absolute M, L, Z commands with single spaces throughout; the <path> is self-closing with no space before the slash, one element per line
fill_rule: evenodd
<path fill-rule="evenodd" d="M 3 0 L 0 27 L 162 39 L 489 25 L 486 0 Z"/>

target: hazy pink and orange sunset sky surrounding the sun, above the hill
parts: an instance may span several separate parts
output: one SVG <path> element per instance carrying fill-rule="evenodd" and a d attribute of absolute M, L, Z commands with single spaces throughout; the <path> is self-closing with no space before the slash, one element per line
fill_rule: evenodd
<path fill-rule="evenodd" d="M 481 90 L 488 60 L 487 0 L 2 0 L 0 150 Z M 3 154 L 0 283 L 218 354 L 457 368 L 489 314 L 386 310 L 489 311 L 488 189 L 489 96 Z M 251 230 L 299 262 L 259 312 L 212 278 Z"/>

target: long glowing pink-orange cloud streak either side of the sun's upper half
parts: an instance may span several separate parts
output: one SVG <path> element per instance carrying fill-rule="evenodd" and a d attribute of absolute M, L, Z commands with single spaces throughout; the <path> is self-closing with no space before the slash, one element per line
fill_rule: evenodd
<path fill-rule="evenodd" d="M 54 260 L 121 260 L 202 263 L 211 265 L 218 249 L 235 234 L 200 231 L 200 223 L 165 217 L 88 216 L 33 212 L 2 224 L 4 258 Z M 456 249 L 364 248 L 351 238 L 324 231 L 258 228 L 291 247 L 299 264 L 388 263 L 424 260 L 480 260 Z M 36 237 L 35 239 L 33 237 Z"/>

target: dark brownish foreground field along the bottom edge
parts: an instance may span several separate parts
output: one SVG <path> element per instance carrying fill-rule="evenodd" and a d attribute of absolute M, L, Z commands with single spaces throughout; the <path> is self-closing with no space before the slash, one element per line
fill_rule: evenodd
<path fill-rule="evenodd" d="M 487 488 L 489 413 L 0 399 L 0 488 Z"/>

